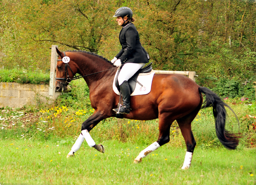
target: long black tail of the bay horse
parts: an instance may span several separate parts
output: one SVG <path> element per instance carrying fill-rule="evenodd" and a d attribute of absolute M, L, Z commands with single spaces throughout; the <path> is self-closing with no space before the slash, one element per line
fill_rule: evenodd
<path fill-rule="evenodd" d="M 203 108 L 213 107 L 213 115 L 215 118 L 215 129 L 216 134 L 222 145 L 228 149 L 236 149 L 238 145 L 239 134 L 230 133 L 225 129 L 226 122 L 226 109 L 224 106 L 228 107 L 233 111 L 226 103 L 224 103 L 218 95 L 205 87 L 199 87 L 199 92 L 202 92 L 206 96 Z M 234 113 L 234 111 L 233 111 Z M 235 114 L 235 113 L 234 113 Z M 236 115 L 236 114 L 235 114 Z M 236 117 L 237 118 L 237 117 Z M 237 119 L 238 121 L 238 119 Z M 239 121 L 238 121 L 239 124 Z"/>

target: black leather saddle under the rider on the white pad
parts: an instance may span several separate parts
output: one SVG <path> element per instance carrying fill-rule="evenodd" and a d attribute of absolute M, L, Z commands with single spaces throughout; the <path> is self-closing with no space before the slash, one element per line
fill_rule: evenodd
<path fill-rule="evenodd" d="M 123 65 L 122 65 L 123 66 Z M 117 72 L 117 75 L 116 75 L 116 79 L 115 79 L 115 86 L 117 88 L 117 90 L 120 92 L 120 87 L 119 87 L 119 84 L 118 84 L 118 75 L 120 73 L 120 70 L 122 69 L 122 66 L 121 68 L 118 69 L 118 72 Z M 138 82 L 138 76 L 139 74 L 141 73 L 150 73 L 152 71 L 152 62 L 150 64 L 148 64 L 148 66 L 146 66 L 145 68 L 142 68 L 140 70 L 138 70 L 138 72 L 136 72 L 134 74 L 134 76 L 132 76 L 129 80 L 128 80 L 128 84 L 130 86 L 130 90 L 131 90 L 131 93 L 134 92 L 135 90 L 135 87 L 136 87 L 136 83 L 138 83 L 140 86 L 143 86 L 142 84 L 140 84 L 140 82 Z"/>

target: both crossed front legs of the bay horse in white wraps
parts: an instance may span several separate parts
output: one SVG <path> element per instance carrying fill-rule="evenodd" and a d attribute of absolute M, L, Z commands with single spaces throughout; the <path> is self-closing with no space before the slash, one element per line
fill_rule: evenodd
<path fill-rule="evenodd" d="M 106 119 L 109 116 L 103 115 L 100 113 L 100 111 L 95 111 L 93 115 L 91 115 L 84 123 L 82 123 L 82 129 L 79 137 L 77 138 L 76 142 L 71 148 L 71 151 L 68 153 L 67 157 L 74 156 L 74 153 L 80 149 L 80 146 L 82 145 L 84 139 L 88 143 L 90 147 L 94 147 L 98 151 L 104 153 L 104 147 L 99 144 L 96 145 L 92 137 L 90 136 L 89 131 L 95 127 L 100 121 L 103 119 Z"/>

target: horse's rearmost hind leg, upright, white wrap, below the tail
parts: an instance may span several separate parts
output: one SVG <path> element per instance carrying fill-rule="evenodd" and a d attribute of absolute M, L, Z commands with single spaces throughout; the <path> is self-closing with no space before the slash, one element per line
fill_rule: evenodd
<path fill-rule="evenodd" d="M 192 133 L 191 122 L 196 117 L 200 107 L 192 111 L 190 114 L 176 120 L 180 127 L 182 136 L 185 139 L 186 148 L 187 148 L 182 169 L 188 169 L 191 165 L 192 155 L 194 152 L 194 148 L 196 147 L 196 140 L 194 139 L 194 135 Z"/>

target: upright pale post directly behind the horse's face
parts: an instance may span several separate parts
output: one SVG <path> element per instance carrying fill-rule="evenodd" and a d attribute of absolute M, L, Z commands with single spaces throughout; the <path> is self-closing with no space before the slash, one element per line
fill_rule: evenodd
<path fill-rule="evenodd" d="M 56 64 L 57 64 L 57 52 L 56 52 L 57 45 L 52 45 L 52 54 L 51 54 L 51 68 L 50 68 L 50 84 L 49 84 L 49 95 L 53 96 L 55 93 L 55 77 L 56 77 Z"/>

